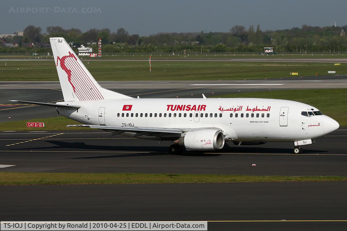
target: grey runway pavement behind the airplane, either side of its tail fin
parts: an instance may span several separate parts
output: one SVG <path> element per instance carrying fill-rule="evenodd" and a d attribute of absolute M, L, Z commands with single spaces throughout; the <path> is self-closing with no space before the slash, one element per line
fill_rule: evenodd
<path fill-rule="evenodd" d="M 228 81 L 101 81 L 101 86 L 132 97 L 202 98 L 264 90 L 347 88 L 347 75 L 291 77 L 268 80 Z M 54 103 L 63 99 L 59 82 L 0 82 L 0 123 L 33 118 L 57 117 L 55 108 L 13 103 L 24 100 Z M 193 94 L 193 96 L 192 96 Z M 11 116 L 11 119 L 8 117 Z"/>

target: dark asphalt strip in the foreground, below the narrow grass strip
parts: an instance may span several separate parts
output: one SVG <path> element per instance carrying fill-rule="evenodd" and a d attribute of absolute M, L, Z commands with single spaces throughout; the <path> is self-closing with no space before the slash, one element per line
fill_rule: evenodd
<path fill-rule="evenodd" d="M 346 182 L 2 186 L 0 217 L 214 221 L 208 230 L 345 230 L 346 190 Z"/>

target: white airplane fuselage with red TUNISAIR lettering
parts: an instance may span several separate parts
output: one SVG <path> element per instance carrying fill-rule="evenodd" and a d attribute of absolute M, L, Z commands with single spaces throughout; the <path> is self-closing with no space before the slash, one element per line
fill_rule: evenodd
<path fill-rule="evenodd" d="M 186 130 L 211 127 L 222 130 L 226 141 L 300 141 L 316 139 L 338 127 L 328 116 L 312 115 L 319 111 L 315 107 L 279 99 L 104 99 L 60 104 L 81 106 L 78 110 L 57 110 L 60 115 L 84 124 Z M 302 112 L 307 112 L 307 116 Z"/>

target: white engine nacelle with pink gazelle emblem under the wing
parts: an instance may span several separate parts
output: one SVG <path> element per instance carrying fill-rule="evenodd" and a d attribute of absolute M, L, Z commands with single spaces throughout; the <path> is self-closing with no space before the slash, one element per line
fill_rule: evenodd
<path fill-rule="evenodd" d="M 178 139 L 178 144 L 189 151 L 220 150 L 224 146 L 224 135 L 221 131 L 210 129 L 187 132 Z"/>

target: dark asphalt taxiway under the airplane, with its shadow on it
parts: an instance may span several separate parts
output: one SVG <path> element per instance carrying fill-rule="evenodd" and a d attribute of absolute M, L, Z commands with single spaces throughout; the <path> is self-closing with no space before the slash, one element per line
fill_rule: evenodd
<path fill-rule="evenodd" d="M 347 176 L 347 130 L 341 127 L 291 154 L 293 143 L 237 146 L 218 152 L 168 153 L 169 141 L 110 136 L 99 130 L 1 132 L 0 168 L 14 172 L 139 172 Z M 251 166 L 253 163 L 255 167 Z"/>

